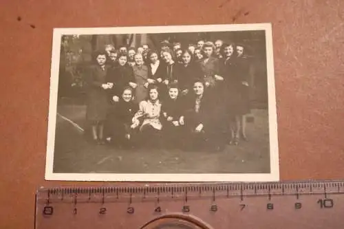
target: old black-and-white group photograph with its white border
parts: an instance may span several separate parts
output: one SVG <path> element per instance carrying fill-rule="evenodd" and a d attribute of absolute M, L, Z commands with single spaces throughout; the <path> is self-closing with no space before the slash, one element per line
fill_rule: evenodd
<path fill-rule="evenodd" d="M 56 28 L 45 179 L 279 180 L 270 23 Z"/>

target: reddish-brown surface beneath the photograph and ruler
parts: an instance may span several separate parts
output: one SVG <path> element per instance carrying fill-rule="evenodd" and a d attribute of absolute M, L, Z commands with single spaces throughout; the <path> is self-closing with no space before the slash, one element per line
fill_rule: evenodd
<path fill-rule="evenodd" d="M 75 184 L 44 180 L 52 28 L 273 23 L 281 179 L 343 177 L 344 1 L 0 4 L 0 228 L 32 228 L 37 187 Z"/>

